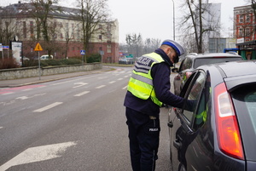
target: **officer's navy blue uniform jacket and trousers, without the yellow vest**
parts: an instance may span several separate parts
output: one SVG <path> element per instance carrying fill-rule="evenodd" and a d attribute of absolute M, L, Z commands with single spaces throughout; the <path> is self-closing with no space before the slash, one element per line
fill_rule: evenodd
<path fill-rule="evenodd" d="M 156 97 L 166 105 L 181 108 L 184 103 L 183 98 L 170 92 L 172 62 L 161 48 L 154 52 L 160 54 L 164 60 L 151 68 Z M 154 170 L 160 141 L 160 106 L 150 98 L 147 100 L 137 98 L 130 91 L 125 95 L 124 105 L 129 130 L 131 167 L 134 171 Z"/>

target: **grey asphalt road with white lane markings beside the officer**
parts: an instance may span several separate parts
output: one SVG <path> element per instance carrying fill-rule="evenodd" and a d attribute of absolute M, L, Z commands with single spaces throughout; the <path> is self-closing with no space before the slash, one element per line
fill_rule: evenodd
<path fill-rule="evenodd" d="M 123 106 L 131 67 L 0 89 L 0 171 L 131 170 Z M 156 170 L 170 170 L 167 109 Z"/>

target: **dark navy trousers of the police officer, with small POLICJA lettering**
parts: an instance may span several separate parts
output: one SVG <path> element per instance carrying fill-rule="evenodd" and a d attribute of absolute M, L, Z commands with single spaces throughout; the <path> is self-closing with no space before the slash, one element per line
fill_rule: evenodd
<path fill-rule="evenodd" d="M 127 125 L 130 139 L 131 167 L 133 171 L 155 169 L 160 137 L 159 118 L 126 107 Z"/>

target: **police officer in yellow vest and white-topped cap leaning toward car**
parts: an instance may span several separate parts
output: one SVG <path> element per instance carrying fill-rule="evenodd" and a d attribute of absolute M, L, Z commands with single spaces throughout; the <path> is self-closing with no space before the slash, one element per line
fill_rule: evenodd
<path fill-rule="evenodd" d="M 125 115 L 134 171 L 155 169 L 160 137 L 160 107 L 181 108 L 183 98 L 170 92 L 171 66 L 184 53 L 177 42 L 165 40 L 153 53 L 144 54 L 134 66 L 125 95 Z"/>

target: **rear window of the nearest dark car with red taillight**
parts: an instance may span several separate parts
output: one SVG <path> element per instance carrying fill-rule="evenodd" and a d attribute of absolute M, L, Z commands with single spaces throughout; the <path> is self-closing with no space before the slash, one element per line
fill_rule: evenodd
<path fill-rule="evenodd" d="M 231 93 L 246 159 L 256 161 L 256 84 L 243 86 Z"/>

